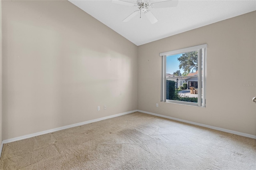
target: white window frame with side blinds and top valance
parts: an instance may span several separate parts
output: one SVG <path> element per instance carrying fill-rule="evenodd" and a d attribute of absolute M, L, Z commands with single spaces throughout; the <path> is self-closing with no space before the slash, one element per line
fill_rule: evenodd
<path fill-rule="evenodd" d="M 206 49 L 207 49 L 207 44 L 202 44 L 202 45 L 196 45 L 193 47 L 187 47 L 187 48 L 183 48 L 183 49 L 167 51 L 167 52 L 163 52 L 163 53 L 159 54 L 162 57 L 161 101 L 166 102 L 166 103 L 178 103 L 178 104 L 184 104 L 184 105 L 206 107 Z M 198 77 L 198 103 L 166 100 L 166 56 L 187 53 L 187 52 L 192 52 L 192 51 L 196 51 L 196 50 L 198 51 L 198 75 L 174 76 L 173 78 L 176 78 L 176 77 L 177 78 L 179 78 L 179 77 Z M 202 85 L 200 82 L 202 82 Z M 202 91 L 199 89 L 202 89 Z"/>

